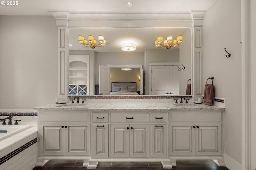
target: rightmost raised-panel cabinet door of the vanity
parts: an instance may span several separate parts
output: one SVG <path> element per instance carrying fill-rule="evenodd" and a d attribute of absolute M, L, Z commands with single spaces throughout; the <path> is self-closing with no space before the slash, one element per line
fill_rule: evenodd
<path fill-rule="evenodd" d="M 221 155 L 221 123 L 197 123 L 196 155 Z"/>

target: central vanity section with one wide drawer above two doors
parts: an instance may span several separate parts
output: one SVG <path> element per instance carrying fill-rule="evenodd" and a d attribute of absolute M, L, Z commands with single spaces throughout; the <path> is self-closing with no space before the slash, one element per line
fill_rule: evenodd
<path fill-rule="evenodd" d="M 110 122 L 110 157 L 149 157 L 149 113 L 110 113 Z"/>

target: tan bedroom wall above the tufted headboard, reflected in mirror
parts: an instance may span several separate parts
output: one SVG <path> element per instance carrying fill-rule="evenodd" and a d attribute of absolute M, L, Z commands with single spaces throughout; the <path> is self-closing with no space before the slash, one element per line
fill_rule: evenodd
<path fill-rule="evenodd" d="M 136 89 L 140 90 L 140 69 L 132 68 L 129 71 L 123 71 L 120 68 L 110 69 L 110 82 L 136 82 Z"/>

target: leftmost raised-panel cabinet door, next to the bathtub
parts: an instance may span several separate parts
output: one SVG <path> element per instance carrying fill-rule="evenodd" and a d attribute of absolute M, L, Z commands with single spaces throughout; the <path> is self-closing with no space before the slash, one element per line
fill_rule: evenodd
<path fill-rule="evenodd" d="M 64 123 L 41 123 L 40 155 L 64 155 L 65 129 Z"/>

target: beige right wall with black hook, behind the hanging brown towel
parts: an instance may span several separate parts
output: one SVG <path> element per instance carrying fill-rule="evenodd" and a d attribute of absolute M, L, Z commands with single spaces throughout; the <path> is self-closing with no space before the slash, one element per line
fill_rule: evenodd
<path fill-rule="evenodd" d="M 204 17 L 202 86 L 213 76 L 215 96 L 226 98 L 224 154 L 238 164 L 242 163 L 240 42 L 241 1 L 218 0 Z M 231 53 L 230 58 L 224 48 Z"/>

